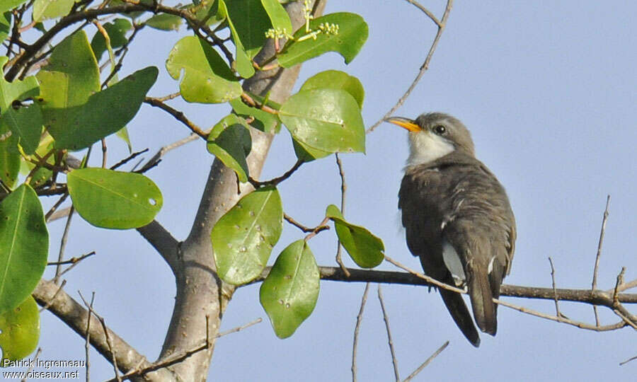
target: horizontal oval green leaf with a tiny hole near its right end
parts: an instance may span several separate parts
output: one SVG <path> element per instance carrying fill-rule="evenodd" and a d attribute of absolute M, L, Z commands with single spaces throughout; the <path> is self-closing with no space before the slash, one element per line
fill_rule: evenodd
<path fill-rule="evenodd" d="M 163 198 L 152 180 L 137 173 L 81 168 L 67 175 L 73 205 L 88 223 L 127 229 L 149 224 Z"/>

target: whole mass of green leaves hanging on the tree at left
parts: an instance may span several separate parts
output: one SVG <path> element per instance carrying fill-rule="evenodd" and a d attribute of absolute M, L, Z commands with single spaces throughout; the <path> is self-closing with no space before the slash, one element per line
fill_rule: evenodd
<path fill-rule="evenodd" d="M 146 175 L 106 168 L 105 158 L 101 168 L 88 166 L 92 147 L 105 146 L 113 134 L 132 146 L 127 125 L 148 102 L 159 69 L 134 68 L 123 79 L 118 72 L 145 27 L 192 30 L 168 54 L 167 73 L 178 81 L 183 100 L 233 108 L 209 132 L 198 133 L 239 183 L 256 186 L 210 233 L 217 272 L 225 282 L 245 284 L 263 272 L 282 231 L 277 184 L 294 172 L 263 183 L 251 178 L 252 129 L 277 134 L 285 126 L 298 158 L 294 170 L 331 154 L 365 152 L 365 92 L 355 77 L 322 71 L 282 104 L 242 87 L 259 71 L 289 68 L 326 52 L 351 62 L 368 34 L 365 21 L 353 13 L 317 18 L 307 13 L 298 30 L 277 0 L 200 0 L 177 7 L 150 0 L 13 0 L 0 1 L 0 13 L 0 38 L 8 45 L 8 55 L 0 57 L 6 72 L 0 78 L 0 347 L 5 359 L 25 357 L 38 342 L 39 315 L 30 294 L 47 265 L 50 216 L 39 196 L 68 195 L 83 219 L 110 229 L 145 226 L 162 207 L 161 190 Z M 78 30 L 54 39 L 80 21 Z M 88 25 L 96 26 L 90 41 Z M 28 42 L 25 30 L 35 41 Z M 229 39 L 217 37 L 221 30 Z M 270 40 L 275 54 L 257 61 Z M 183 119 L 183 113 L 163 109 Z M 77 154 L 83 157 L 80 165 L 73 161 Z M 329 219 L 358 265 L 379 263 L 380 239 L 348 223 L 335 206 L 328 207 Z M 313 234 L 280 253 L 260 290 L 279 337 L 292 335 L 318 299 L 319 271 L 308 244 Z"/>

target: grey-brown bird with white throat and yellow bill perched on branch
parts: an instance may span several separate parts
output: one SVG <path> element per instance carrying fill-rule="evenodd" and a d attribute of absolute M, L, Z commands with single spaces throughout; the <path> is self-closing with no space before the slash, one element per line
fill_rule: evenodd
<path fill-rule="evenodd" d="M 511 270 L 516 238 L 503 185 L 476 159 L 471 133 L 455 117 L 430 112 L 386 122 L 408 130 L 398 209 L 409 250 L 428 276 L 466 287 L 478 328 L 495 336 L 493 299 Z M 478 347 L 480 336 L 461 294 L 438 291 L 458 328 Z"/>

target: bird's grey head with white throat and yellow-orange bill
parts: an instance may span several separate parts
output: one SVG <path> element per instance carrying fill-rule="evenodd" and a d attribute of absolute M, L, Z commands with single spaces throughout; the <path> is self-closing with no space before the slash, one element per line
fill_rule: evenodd
<path fill-rule="evenodd" d="M 474 141 L 469 130 L 451 115 L 430 112 L 415 120 L 391 117 L 385 121 L 409 130 L 407 166 L 430 163 L 453 151 L 474 156 Z"/>

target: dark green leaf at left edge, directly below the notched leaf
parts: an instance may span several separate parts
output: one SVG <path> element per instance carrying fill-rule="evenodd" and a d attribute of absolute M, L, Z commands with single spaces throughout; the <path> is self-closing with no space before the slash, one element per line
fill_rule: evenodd
<path fill-rule="evenodd" d="M 33 104 L 17 109 L 8 108 L 2 119 L 11 131 L 20 137 L 20 145 L 25 154 L 33 154 L 38 149 L 42 134 L 42 111 L 40 105 Z"/>

